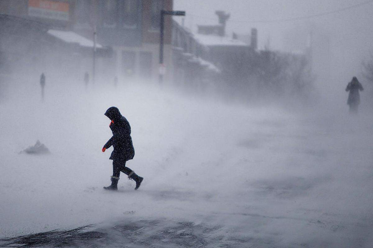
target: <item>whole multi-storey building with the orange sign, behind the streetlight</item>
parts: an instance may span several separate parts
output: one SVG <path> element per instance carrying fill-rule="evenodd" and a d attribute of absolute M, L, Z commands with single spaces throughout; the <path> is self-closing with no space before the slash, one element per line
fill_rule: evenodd
<path fill-rule="evenodd" d="M 172 0 L 0 0 L 0 13 L 30 19 L 51 29 L 74 32 L 110 46 L 110 56 L 97 57 L 101 81 L 155 81 L 159 74 L 160 11 L 172 10 Z M 164 23 L 165 79 L 172 71 L 171 16 Z M 96 34 L 96 35 L 94 35 Z M 93 72 L 92 56 L 81 59 L 80 70 Z"/>

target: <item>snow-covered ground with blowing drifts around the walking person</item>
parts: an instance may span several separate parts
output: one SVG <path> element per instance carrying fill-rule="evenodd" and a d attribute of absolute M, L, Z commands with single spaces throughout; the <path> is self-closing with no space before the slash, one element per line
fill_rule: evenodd
<path fill-rule="evenodd" d="M 85 91 L 48 75 L 42 103 L 35 81 L 16 79 L 0 102 L 0 246 L 55 229 L 32 244 L 70 233 L 65 246 L 373 246 L 372 116 L 228 105 L 143 84 Z M 102 189 L 113 105 L 132 126 L 138 191 L 124 174 L 118 192 Z M 37 140 L 50 154 L 19 154 Z"/>

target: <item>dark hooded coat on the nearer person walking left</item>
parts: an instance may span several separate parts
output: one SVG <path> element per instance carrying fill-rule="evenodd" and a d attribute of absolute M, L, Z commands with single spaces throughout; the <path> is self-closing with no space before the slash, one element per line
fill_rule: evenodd
<path fill-rule="evenodd" d="M 122 116 L 117 107 L 110 107 L 106 110 L 105 115 L 112 120 L 110 129 L 113 132 L 112 138 L 106 142 L 104 148 L 113 146 L 114 150 L 109 159 L 127 161 L 135 156 L 135 149 L 132 144 L 131 126 L 128 120 Z"/>

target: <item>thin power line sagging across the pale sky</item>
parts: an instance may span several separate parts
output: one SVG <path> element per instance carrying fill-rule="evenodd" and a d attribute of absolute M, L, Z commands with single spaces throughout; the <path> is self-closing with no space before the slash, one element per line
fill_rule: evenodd
<path fill-rule="evenodd" d="M 247 20 L 229 20 L 228 19 L 228 22 L 245 22 L 245 23 L 291 22 L 291 21 L 297 21 L 297 20 L 310 19 L 310 18 L 319 17 L 319 16 L 326 16 L 326 15 L 330 15 L 330 14 L 342 12 L 342 11 L 345 11 L 345 10 L 354 9 L 354 8 L 357 8 L 357 7 L 360 7 L 362 5 L 365 5 L 365 4 L 368 4 L 368 3 L 372 3 L 372 2 L 373 2 L 373 0 L 364 1 L 362 3 L 354 4 L 354 5 L 351 5 L 351 6 L 348 6 L 348 7 L 344 7 L 344 8 L 341 8 L 341 9 L 332 10 L 332 11 L 323 12 L 323 13 L 314 14 L 314 15 L 309 15 L 309 16 L 300 16 L 300 17 L 286 18 L 286 19 L 277 19 L 277 20 L 253 20 L 253 21 L 247 21 Z M 213 19 L 213 18 L 205 17 L 205 16 L 198 16 L 198 15 L 191 15 L 191 14 L 187 14 L 187 15 L 188 16 L 201 17 L 201 18 L 204 18 L 204 19 L 216 20 L 216 19 Z"/>

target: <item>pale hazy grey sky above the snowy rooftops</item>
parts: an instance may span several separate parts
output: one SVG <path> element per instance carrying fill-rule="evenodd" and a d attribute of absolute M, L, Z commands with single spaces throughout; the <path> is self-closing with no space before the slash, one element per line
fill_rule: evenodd
<path fill-rule="evenodd" d="M 215 10 L 231 13 L 227 34 L 248 33 L 258 29 L 258 45 L 271 49 L 302 51 L 313 32 L 314 54 L 317 64 L 326 71 L 316 72 L 319 79 L 345 84 L 352 75 L 361 73 L 361 61 L 373 49 L 373 2 L 321 17 L 289 22 L 255 23 L 252 21 L 278 20 L 316 15 L 334 11 L 366 0 L 174 0 L 175 10 L 185 10 L 185 25 L 192 30 L 197 24 L 215 24 Z M 181 17 L 177 17 L 180 18 Z M 319 56 L 320 55 L 320 56 Z M 318 61 L 319 60 L 319 61 Z M 322 61 L 320 61 L 322 60 Z M 320 62 L 320 63 L 318 63 Z M 320 82 L 319 82 L 320 83 Z"/>

